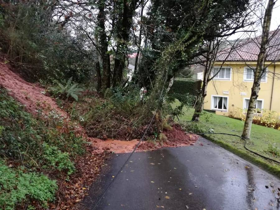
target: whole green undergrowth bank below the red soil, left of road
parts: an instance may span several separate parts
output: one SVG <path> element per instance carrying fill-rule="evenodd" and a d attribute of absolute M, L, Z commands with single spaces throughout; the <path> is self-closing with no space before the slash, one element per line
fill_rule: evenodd
<path fill-rule="evenodd" d="M 0 89 L 0 206 L 3 209 L 48 208 L 58 189 L 56 179 L 74 173 L 74 158 L 84 140 L 55 111 L 38 110 L 36 118 Z"/>

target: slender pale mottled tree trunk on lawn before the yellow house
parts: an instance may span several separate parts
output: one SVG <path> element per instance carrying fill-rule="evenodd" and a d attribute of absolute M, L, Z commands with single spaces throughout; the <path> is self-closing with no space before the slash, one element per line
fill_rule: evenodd
<path fill-rule="evenodd" d="M 266 59 L 266 50 L 268 48 L 269 30 L 271 23 L 271 15 L 274 7 L 274 0 L 269 0 L 264 13 L 262 41 L 260 44 L 260 52 L 257 60 L 257 67 L 254 74 L 254 83 L 251 91 L 248 111 L 244 123 L 242 138 L 250 139 L 251 127 L 254 118 L 254 109 L 256 107 L 257 98 L 260 90 L 261 77 L 265 71 L 264 62 Z"/>

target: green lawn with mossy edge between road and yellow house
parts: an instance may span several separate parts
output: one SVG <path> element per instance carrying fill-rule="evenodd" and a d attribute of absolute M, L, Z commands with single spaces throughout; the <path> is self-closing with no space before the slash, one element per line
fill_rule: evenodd
<path fill-rule="evenodd" d="M 175 105 L 180 102 L 176 101 Z M 184 114 L 179 118 L 181 122 L 190 121 L 194 113 L 194 109 L 184 108 Z M 241 135 L 244 122 L 238 119 L 232 119 L 229 117 L 217 115 L 204 111 L 198 123 L 186 122 L 186 126 L 192 130 L 203 130 L 203 132 L 212 131 L 215 133 L 230 133 Z M 195 127 L 197 129 L 195 129 Z M 254 155 L 253 153 L 245 150 L 243 147 L 244 141 L 238 137 L 221 135 L 221 134 L 206 134 L 204 137 L 220 144 L 222 147 L 236 153 L 237 155 L 254 162 L 255 164 L 262 166 L 270 172 L 280 177 L 280 164 Z M 260 125 L 252 125 L 251 138 L 248 140 L 247 147 L 254 152 L 268 156 L 272 159 L 280 161 L 280 156 L 274 156 L 267 152 L 268 145 L 272 144 L 274 147 L 280 150 L 280 131 L 273 128 L 266 128 Z M 280 152 L 280 151 L 279 151 Z"/>

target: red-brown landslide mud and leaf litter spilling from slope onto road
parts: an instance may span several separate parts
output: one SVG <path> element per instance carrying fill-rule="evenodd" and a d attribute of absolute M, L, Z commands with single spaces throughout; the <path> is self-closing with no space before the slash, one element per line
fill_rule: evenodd
<path fill-rule="evenodd" d="M 66 121 L 70 120 L 68 114 L 61 110 L 54 99 L 44 95 L 46 91 L 38 84 L 32 84 L 23 80 L 18 74 L 12 72 L 12 67 L 0 61 L 0 85 L 7 89 L 8 94 L 26 105 L 26 110 L 31 114 L 37 114 L 37 110 L 42 110 L 48 114 L 51 110 L 62 115 Z M 86 136 L 82 126 L 77 126 L 77 134 L 83 135 L 90 146 L 86 147 L 86 155 L 76 160 L 76 173 L 71 176 L 70 182 L 58 180 L 58 202 L 52 204 L 55 209 L 75 209 L 75 205 L 85 196 L 88 186 L 96 180 L 99 171 L 104 165 L 106 153 L 126 153 L 132 152 L 139 140 L 119 141 L 119 140 L 100 140 Z M 160 142 L 141 142 L 136 151 L 155 150 L 162 147 L 180 147 L 190 145 L 198 138 L 196 135 L 184 133 L 179 125 L 173 126 L 173 130 L 163 132 L 167 140 Z"/>

